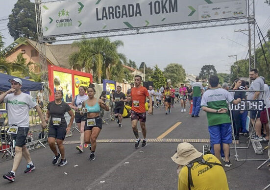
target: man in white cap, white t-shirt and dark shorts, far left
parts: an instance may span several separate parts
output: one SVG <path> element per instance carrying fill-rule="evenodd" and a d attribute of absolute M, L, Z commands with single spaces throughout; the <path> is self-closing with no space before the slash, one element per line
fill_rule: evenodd
<path fill-rule="evenodd" d="M 33 101 L 30 95 L 22 93 L 22 80 L 19 78 L 13 78 L 8 80 L 11 83 L 11 89 L 0 95 L 0 103 L 7 103 L 8 110 L 8 132 L 12 135 L 15 140 L 15 152 L 16 155 L 13 161 L 13 167 L 10 172 L 3 175 L 4 179 L 14 182 L 15 173 L 19 167 L 22 156 L 27 161 L 27 167 L 25 173 L 30 173 L 35 169 L 30 153 L 25 146 L 25 140 L 29 130 L 29 107 L 35 108 L 42 121 L 42 127 L 46 127 L 45 119 L 43 118 L 42 111 L 36 102 Z"/>

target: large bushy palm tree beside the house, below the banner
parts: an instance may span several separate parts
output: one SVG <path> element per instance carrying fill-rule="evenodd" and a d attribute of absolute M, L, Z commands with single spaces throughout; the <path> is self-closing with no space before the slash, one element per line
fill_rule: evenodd
<path fill-rule="evenodd" d="M 111 42 L 109 38 L 83 39 L 73 43 L 74 47 L 79 48 L 78 52 L 70 56 L 70 65 L 73 69 L 92 72 L 93 78 L 101 83 L 101 76 L 110 79 L 111 66 L 119 60 L 126 61 L 123 54 L 117 52 L 117 48 L 123 46 L 122 41 Z"/>

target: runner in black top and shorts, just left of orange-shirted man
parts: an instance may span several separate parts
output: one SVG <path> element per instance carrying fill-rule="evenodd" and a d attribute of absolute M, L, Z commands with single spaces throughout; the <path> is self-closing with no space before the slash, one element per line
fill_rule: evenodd
<path fill-rule="evenodd" d="M 119 127 L 122 127 L 122 115 L 124 111 L 124 100 L 125 95 L 121 92 L 122 88 L 121 86 L 116 87 L 116 93 L 113 95 L 113 101 L 114 104 L 114 116 L 117 118 L 117 123 L 119 124 Z"/>

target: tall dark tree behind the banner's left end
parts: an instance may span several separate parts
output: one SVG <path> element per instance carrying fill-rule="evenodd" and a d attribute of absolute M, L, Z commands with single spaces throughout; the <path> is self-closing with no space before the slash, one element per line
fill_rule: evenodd
<path fill-rule="evenodd" d="M 30 0 L 18 0 L 11 13 L 7 27 L 13 39 L 25 37 L 37 41 L 35 3 Z M 55 38 L 48 39 L 55 40 Z"/>

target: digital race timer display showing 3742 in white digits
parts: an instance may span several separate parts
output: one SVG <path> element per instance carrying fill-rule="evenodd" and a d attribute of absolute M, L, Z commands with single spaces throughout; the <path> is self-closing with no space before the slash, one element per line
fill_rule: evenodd
<path fill-rule="evenodd" d="M 264 100 L 242 100 L 239 104 L 231 103 L 232 111 L 263 111 Z"/>

